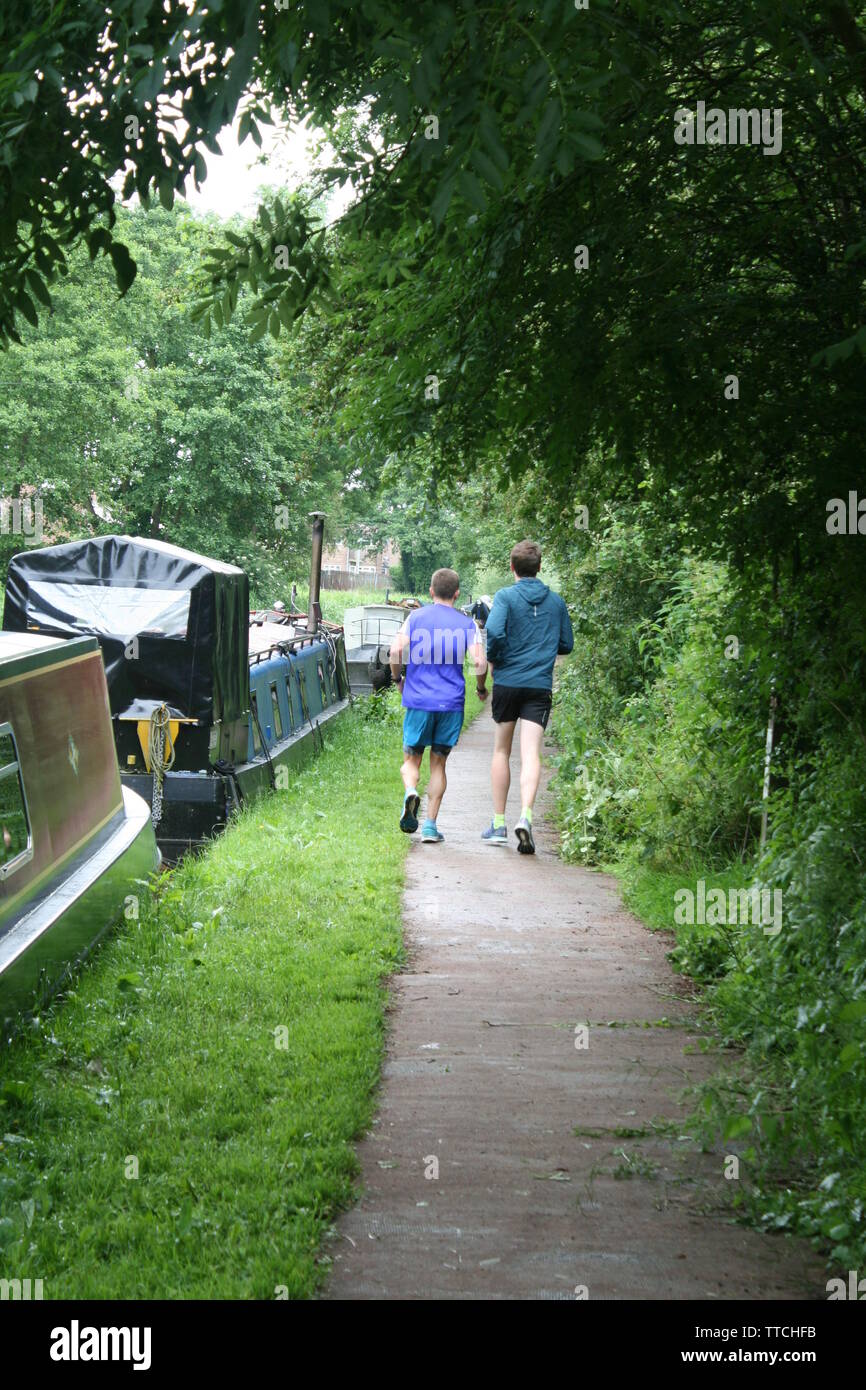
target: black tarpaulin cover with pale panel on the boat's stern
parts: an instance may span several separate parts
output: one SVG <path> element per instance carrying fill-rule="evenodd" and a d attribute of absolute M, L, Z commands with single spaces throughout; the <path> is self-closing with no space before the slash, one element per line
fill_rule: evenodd
<path fill-rule="evenodd" d="M 115 714 L 135 699 L 207 721 L 249 709 L 246 574 L 164 541 L 100 535 L 14 555 L 3 627 L 97 637 Z"/>

